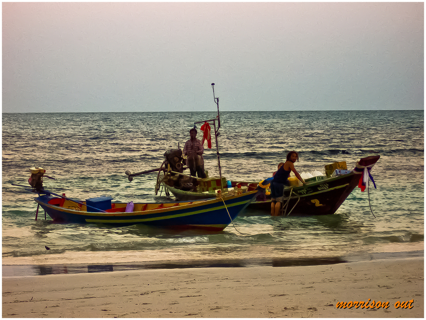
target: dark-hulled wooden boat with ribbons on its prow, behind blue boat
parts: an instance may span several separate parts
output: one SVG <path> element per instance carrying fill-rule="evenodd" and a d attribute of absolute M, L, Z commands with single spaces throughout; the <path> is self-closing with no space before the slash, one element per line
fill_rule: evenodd
<path fill-rule="evenodd" d="M 367 174 L 378 161 L 380 156 L 368 156 L 361 158 L 354 170 L 339 176 L 331 176 L 319 181 L 307 183 L 305 186 L 285 187 L 282 215 L 330 215 L 334 214 L 342 205 L 349 194 L 360 184 L 364 171 Z M 188 179 L 179 179 L 173 173 L 162 173 L 159 175 L 160 183 L 164 189 L 173 194 L 177 201 L 189 201 L 211 198 L 215 196 L 217 190 L 221 189 L 220 179 L 197 179 L 194 184 L 205 185 L 206 182 L 216 184 L 210 190 L 201 192 L 199 186 L 193 187 Z M 222 184 L 226 180 L 222 178 Z M 251 191 L 258 187 L 256 181 L 231 181 L 231 188 Z M 226 188 L 226 187 L 225 187 Z M 265 190 L 268 193 L 268 190 Z M 255 201 L 251 202 L 249 208 L 259 210 L 259 212 L 271 212 L 270 195 L 258 195 Z"/>

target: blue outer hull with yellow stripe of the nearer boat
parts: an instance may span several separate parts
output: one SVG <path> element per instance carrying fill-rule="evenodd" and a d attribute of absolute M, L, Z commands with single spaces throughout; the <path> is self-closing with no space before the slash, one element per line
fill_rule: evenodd
<path fill-rule="evenodd" d="M 52 195 L 40 195 L 34 201 L 58 222 L 101 224 L 146 224 L 178 229 L 223 230 L 256 197 L 256 191 L 221 198 L 180 203 L 167 207 L 138 212 L 86 212 L 49 204 L 58 199 Z M 54 202 L 54 201 L 52 201 Z M 224 204 L 225 202 L 225 204 Z M 176 204 L 177 205 L 177 204 Z M 226 206 L 225 206 L 226 205 Z M 228 214 L 229 212 L 229 214 Z"/>

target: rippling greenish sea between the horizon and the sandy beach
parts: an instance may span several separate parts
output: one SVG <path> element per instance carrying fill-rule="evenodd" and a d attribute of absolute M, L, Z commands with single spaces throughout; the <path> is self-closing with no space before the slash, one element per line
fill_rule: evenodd
<path fill-rule="evenodd" d="M 324 173 L 324 166 L 336 161 L 351 170 L 360 158 L 380 155 L 371 170 L 377 188 L 372 183 L 365 192 L 355 188 L 334 215 L 271 217 L 247 209 L 222 232 L 63 224 L 45 219 L 43 210 L 36 221 L 35 194 L 12 185 L 28 185 L 29 168 L 37 166 L 55 178 L 45 178 L 47 190 L 70 198 L 173 201 L 164 192 L 154 194 L 157 173 L 130 182 L 124 172 L 160 167 L 167 150 L 183 148 L 194 122 L 216 115 L 3 113 L 3 276 L 87 272 L 97 266 L 109 271 L 278 266 L 423 256 L 423 110 L 220 113 L 220 165 L 230 180 L 268 178 L 291 150 L 299 153 L 299 173 Z M 214 140 L 212 149 L 205 144 L 204 161 L 209 176 L 218 176 Z"/>

